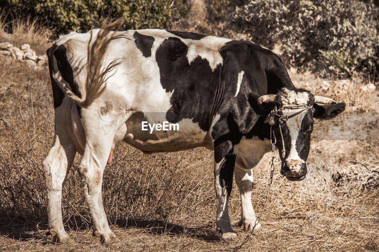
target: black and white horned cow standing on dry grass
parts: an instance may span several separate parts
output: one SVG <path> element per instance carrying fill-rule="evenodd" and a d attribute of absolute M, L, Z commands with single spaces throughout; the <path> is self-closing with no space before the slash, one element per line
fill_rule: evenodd
<path fill-rule="evenodd" d="M 108 226 L 101 185 L 118 143 L 144 153 L 199 146 L 214 150 L 216 230 L 228 239 L 237 235 L 228 213 L 233 173 L 242 203 L 239 225 L 249 230 L 256 221 L 252 168 L 271 151 L 270 125 L 264 123 L 269 112 L 276 108 L 281 173 L 301 180 L 313 118 L 330 119 L 345 108 L 296 89 L 281 59 L 248 41 L 169 30 L 97 29 L 62 36 L 47 54 L 55 108 L 54 143 L 43 163 L 47 235 L 61 243 L 75 243 L 64 231 L 61 193 L 76 152 L 83 155 L 78 170 L 93 235 L 113 243 L 117 238 Z M 284 122 L 280 118 L 295 113 Z M 143 121 L 175 123 L 179 130 L 143 131 Z"/>

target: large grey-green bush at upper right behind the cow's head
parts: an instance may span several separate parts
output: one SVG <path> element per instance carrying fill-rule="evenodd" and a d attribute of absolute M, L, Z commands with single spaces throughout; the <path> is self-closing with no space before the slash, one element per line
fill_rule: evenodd
<path fill-rule="evenodd" d="M 322 73 L 372 73 L 378 65 L 379 8 L 371 0 L 251 0 L 230 18 L 252 41 L 296 66 Z"/>

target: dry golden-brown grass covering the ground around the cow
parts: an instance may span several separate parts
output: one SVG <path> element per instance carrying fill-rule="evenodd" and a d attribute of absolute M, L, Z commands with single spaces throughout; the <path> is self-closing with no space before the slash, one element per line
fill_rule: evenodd
<path fill-rule="evenodd" d="M 21 34 L 6 36 L 20 44 L 28 42 Z M 38 45 L 41 51 L 43 47 L 44 42 Z M 47 212 L 42 170 L 53 137 L 48 69 L 33 70 L 23 62 L 1 57 L 0 67 L 1 251 L 227 251 L 240 243 L 226 243 L 215 235 L 211 151 L 197 148 L 144 155 L 124 144 L 114 151 L 103 183 L 105 211 L 123 247 L 102 246 L 91 236 L 91 217 L 79 186 L 79 156 L 67 179 L 62 204 L 66 230 L 79 245 L 68 248 L 52 243 L 44 236 Z M 379 108 L 378 92 L 361 90 L 367 84 L 365 80 L 327 80 L 330 87 L 325 90 L 319 88 L 326 86 L 324 80 L 310 73 L 300 75 L 291 70 L 290 75 L 298 87 L 346 101 L 349 112 L 374 112 Z M 283 178 L 279 160 L 275 160 L 273 187 L 261 218 L 264 230 L 253 235 L 240 251 L 379 250 L 379 188 L 377 180 L 370 184 L 370 177 L 366 177 L 376 178 L 378 139 L 324 137 L 326 129 L 335 124 L 352 131 L 363 128 L 365 132 L 379 127 L 377 123 L 351 125 L 345 119 L 340 116 L 316 122 L 309 172 L 303 181 Z M 262 208 L 268 169 L 266 155 L 254 169 L 252 201 L 256 212 Z M 336 183 L 332 176 L 337 172 L 341 178 Z M 233 226 L 240 219 L 240 209 L 235 186 L 230 198 Z M 240 227 L 235 229 L 243 240 L 246 232 Z"/>

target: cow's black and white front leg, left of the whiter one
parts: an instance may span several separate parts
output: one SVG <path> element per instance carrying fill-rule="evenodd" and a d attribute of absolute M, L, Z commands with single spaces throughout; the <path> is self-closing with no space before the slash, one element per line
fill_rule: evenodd
<path fill-rule="evenodd" d="M 217 140 L 215 141 L 215 143 Z M 217 143 L 216 143 L 217 144 Z M 228 201 L 233 184 L 233 170 L 238 144 L 228 140 L 215 146 L 215 190 L 217 196 L 216 232 L 222 240 L 237 236 L 229 219 Z"/>

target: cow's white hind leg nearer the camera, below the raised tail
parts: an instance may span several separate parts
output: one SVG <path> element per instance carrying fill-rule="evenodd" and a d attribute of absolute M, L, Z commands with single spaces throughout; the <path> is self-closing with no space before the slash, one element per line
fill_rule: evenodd
<path fill-rule="evenodd" d="M 82 124 L 86 132 L 86 145 L 78 170 L 81 187 L 92 215 L 94 225 L 92 235 L 100 238 L 101 243 L 119 245 L 119 240 L 108 225 L 101 188 L 103 171 L 110 157 L 113 143 L 121 141 L 122 138 L 116 138 L 123 135 L 121 134 L 121 131 L 123 131 L 121 126 L 128 119 L 131 112 L 126 113 L 124 117 L 106 115 L 101 118 L 93 118 L 90 109 L 88 111 L 83 109 L 82 113 Z M 97 123 L 93 123 L 94 121 Z"/>

